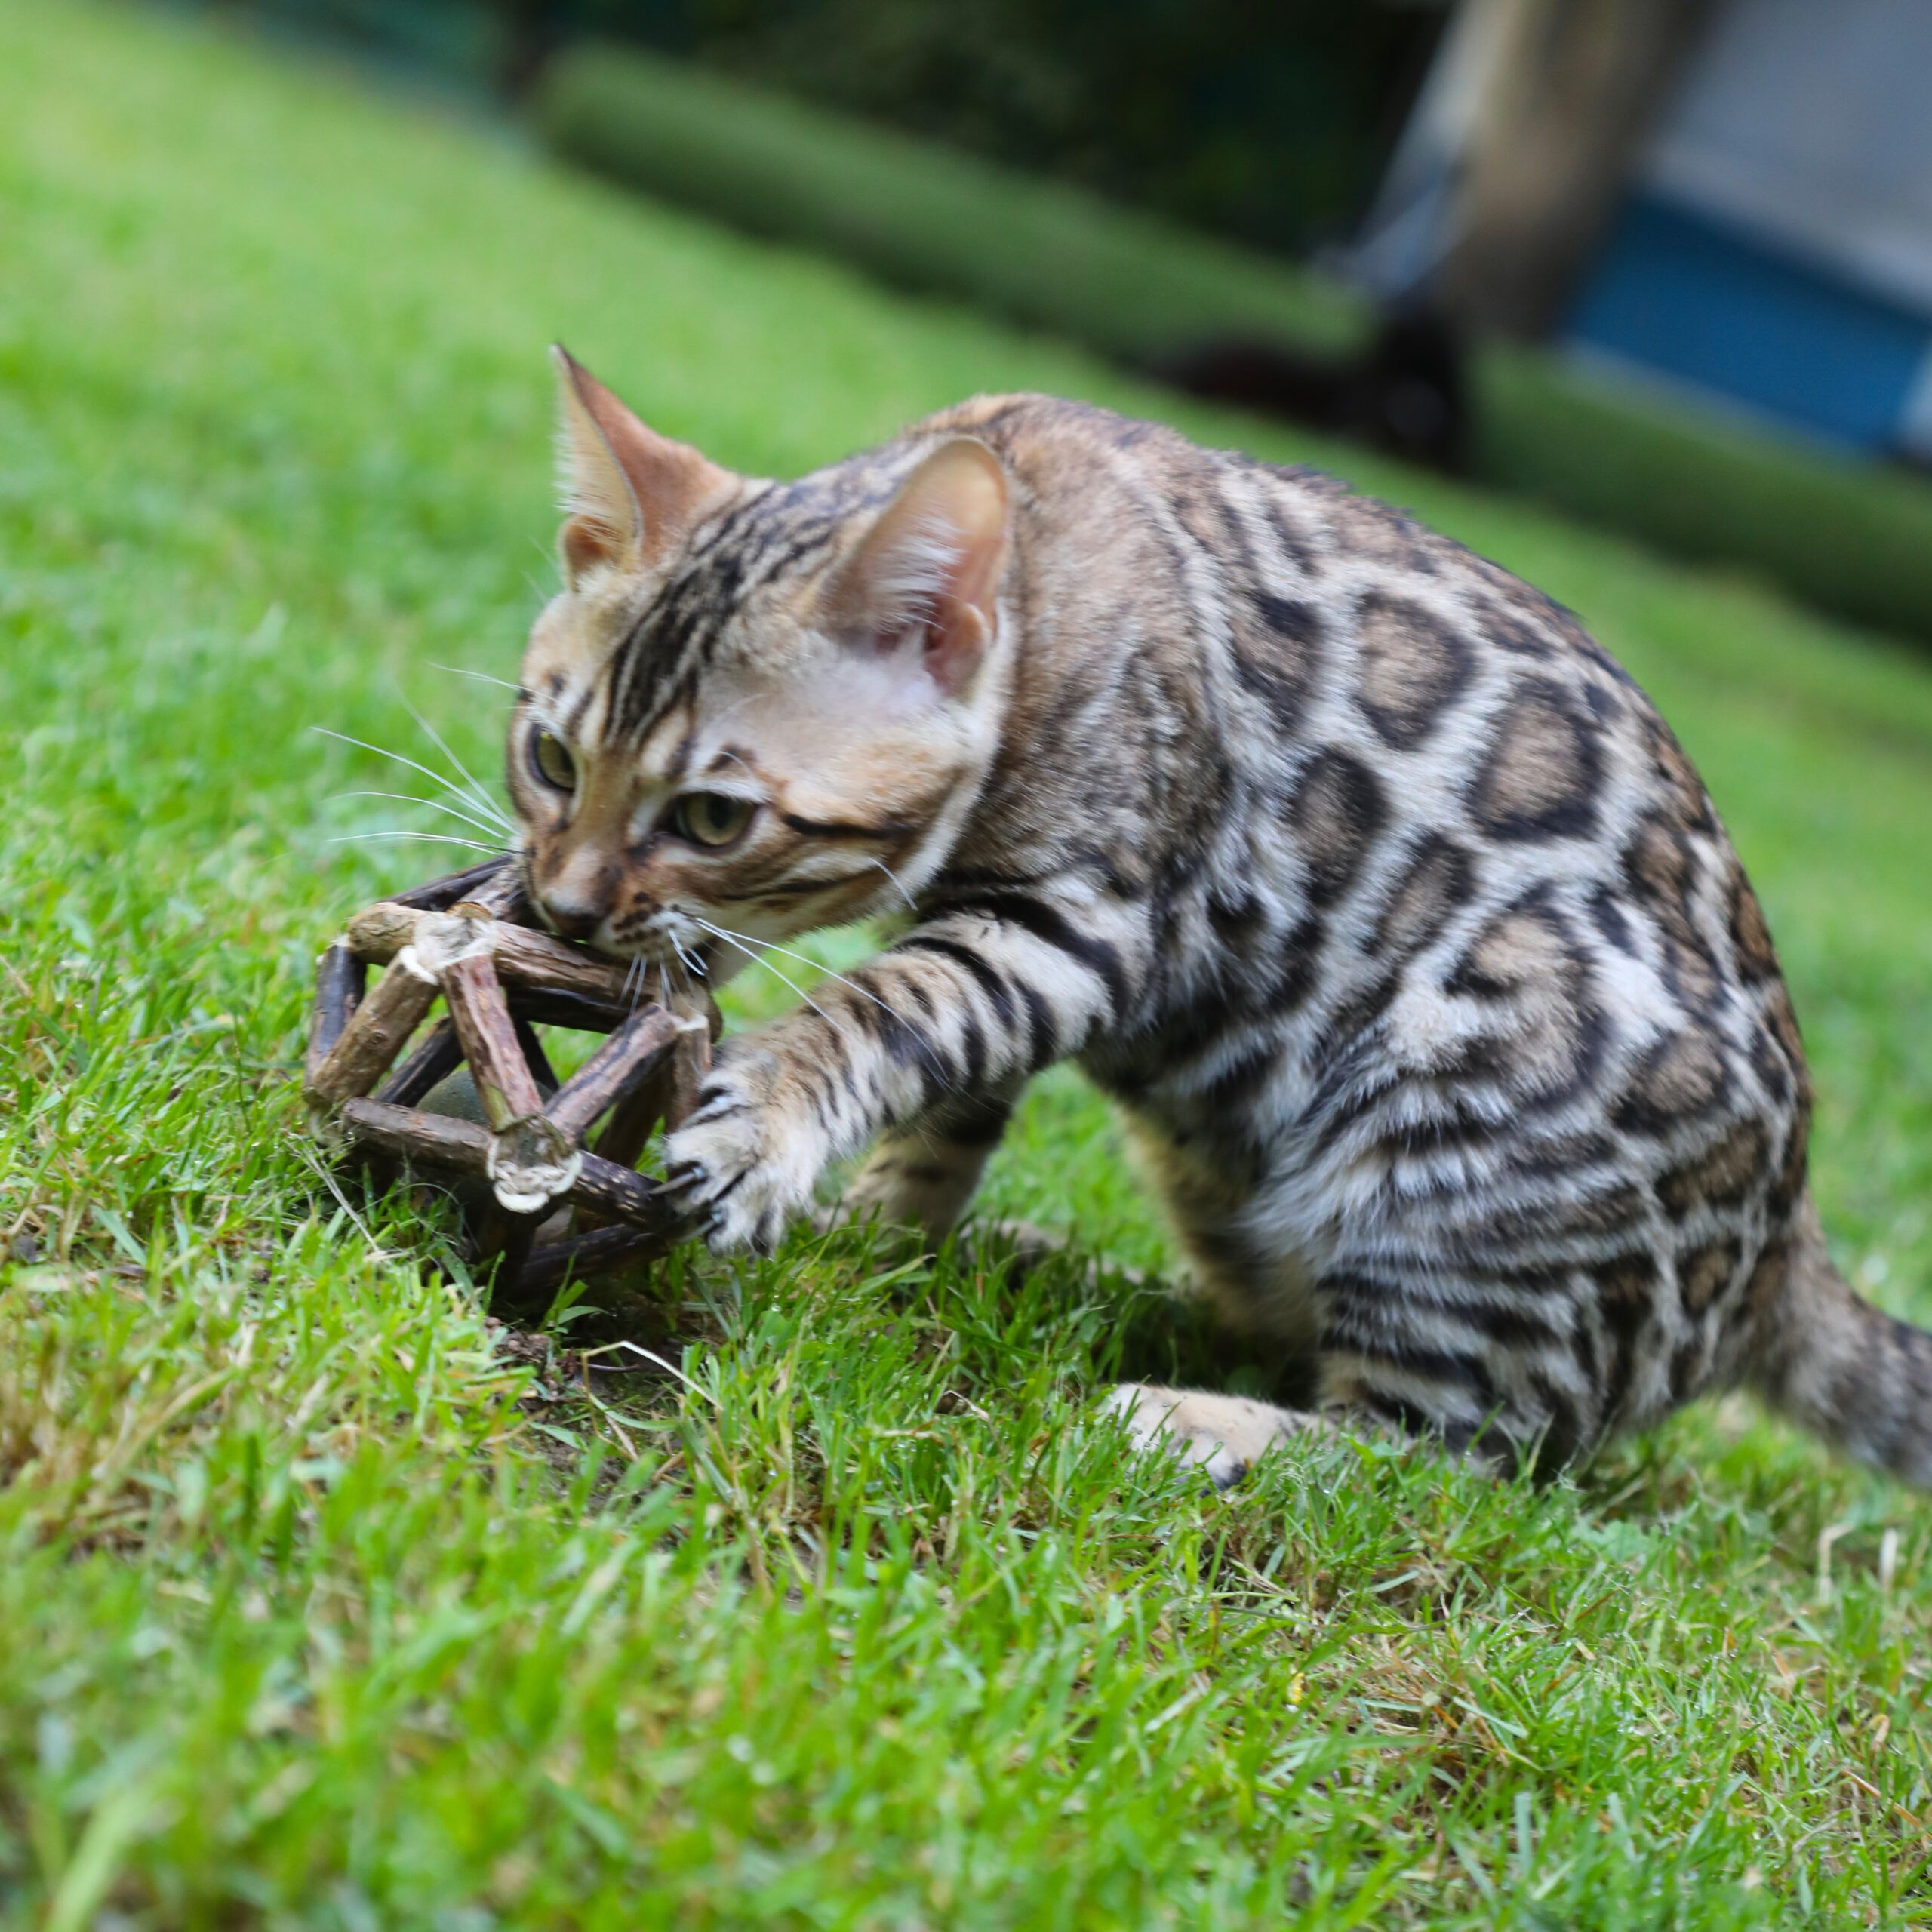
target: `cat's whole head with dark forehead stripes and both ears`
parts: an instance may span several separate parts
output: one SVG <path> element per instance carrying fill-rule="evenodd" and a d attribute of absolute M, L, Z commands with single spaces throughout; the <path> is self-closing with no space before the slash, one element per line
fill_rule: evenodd
<path fill-rule="evenodd" d="M 999 460 L 954 437 L 848 479 L 875 487 L 761 483 L 554 357 L 564 589 L 508 746 L 537 912 L 665 960 L 910 896 L 997 744 Z"/>

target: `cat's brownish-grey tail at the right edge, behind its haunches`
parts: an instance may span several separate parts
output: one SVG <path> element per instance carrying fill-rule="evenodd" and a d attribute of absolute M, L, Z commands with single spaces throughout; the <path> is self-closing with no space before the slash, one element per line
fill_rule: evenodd
<path fill-rule="evenodd" d="M 1864 1300 L 1832 1265 L 1806 1202 L 1760 1314 L 1754 1381 L 1828 1443 L 1932 1490 L 1932 1333 Z"/>

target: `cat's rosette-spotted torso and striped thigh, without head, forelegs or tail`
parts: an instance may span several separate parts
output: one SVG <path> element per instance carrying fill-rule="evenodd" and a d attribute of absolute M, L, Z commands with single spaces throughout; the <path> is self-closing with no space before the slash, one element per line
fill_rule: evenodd
<path fill-rule="evenodd" d="M 1034 875 L 1092 866 L 1138 935 L 1146 991 L 1082 1065 L 1206 1279 L 1314 1281 L 1333 1333 L 1383 1339 L 1445 1283 L 1499 1323 L 1534 1304 L 1596 1350 L 1573 1441 L 1727 1374 L 1801 1209 L 1808 1084 L 1648 696 L 1335 479 L 1049 398 L 933 427 L 1016 481 L 983 819 Z M 1495 1387 L 1524 1333 L 1484 1345 Z"/>

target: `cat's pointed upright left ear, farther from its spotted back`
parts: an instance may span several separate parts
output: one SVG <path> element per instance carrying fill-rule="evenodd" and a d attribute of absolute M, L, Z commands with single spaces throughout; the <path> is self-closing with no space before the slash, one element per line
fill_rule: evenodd
<path fill-rule="evenodd" d="M 551 350 L 551 361 L 564 576 L 576 583 L 599 566 L 647 566 L 730 487 L 730 471 L 649 429 L 562 346 Z"/>

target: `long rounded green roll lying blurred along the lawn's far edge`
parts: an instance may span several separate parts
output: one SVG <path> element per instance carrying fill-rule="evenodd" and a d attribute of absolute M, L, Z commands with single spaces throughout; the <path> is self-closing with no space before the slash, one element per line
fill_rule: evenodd
<path fill-rule="evenodd" d="M 1356 296 L 1277 257 L 634 48 L 566 50 L 537 126 L 649 195 L 1132 367 L 1202 336 L 1333 352 L 1366 328 Z M 1505 342 L 1478 346 L 1470 388 L 1495 489 L 1932 639 L 1922 479 Z"/>

